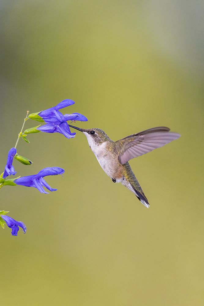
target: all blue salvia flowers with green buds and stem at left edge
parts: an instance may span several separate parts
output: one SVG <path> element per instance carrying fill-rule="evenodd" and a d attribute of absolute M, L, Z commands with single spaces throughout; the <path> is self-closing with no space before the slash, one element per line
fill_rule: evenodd
<path fill-rule="evenodd" d="M 24 124 L 22 126 L 21 132 L 18 135 L 18 139 L 16 142 L 15 147 L 11 148 L 8 152 L 8 158 L 5 166 L 4 172 L 0 175 L 0 188 L 6 185 L 10 186 L 26 186 L 26 187 L 34 187 L 39 190 L 41 193 L 49 193 L 46 192 L 44 188 L 47 190 L 53 192 L 56 191 L 57 189 L 51 188 L 50 185 L 45 181 L 44 177 L 49 176 L 49 175 L 59 175 L 63 174 L 65 172 L 64 169 L 60 167 L 47 167 L 42 170 L 40 170 L 37 174 L 34 175 L 28 175 L 24 177 L 17 177 L 13 179 L 7 179 L 8 176 L 10 175 L 15 175 L 17 172 L 15 171 L 13 167 L 13 158 L 18 160 L 24 165 L 32 165 L 32 161 L 25 158 L 24 156 L 21 156 L 17 154 L 17 144 L 20 138 L 24 139 L 27 143 L 30 141 L 27 138 L 28 134 L 31 133 L 38 133 L 38 132 L 47 132 L 47 133 L 61 133 L 63 134 L 66 138 L 73 138 L 75 137 L 76 133 L 72 133 L 69 129 L 69 125 L 67 121 L 87 121 L 87 118 L 83 116 L 82 114 L 79 113 L 72 113 L 72 114 L 65 114 L 63 115 L 59 110 L 66 106 L 70 106 L 74 104 L 74 101 L 66 99 L 63 100 L 62 102 L 58 103 L 57 106 L 51 107 L 47 110 L 42 110 L 38 113 L 32 113 L 28 115 L 27 111 L 27 116 L 24 119 L 24 124 L 25 121 L 28 119 L 36 120 L 39 122 L 44 122 L 45 125 L 43 126 L 35 126 L 33 128 L 26 129 L 23 132 Z M 17 233 L 19 231 L 19 227 L 23 229 L 23 232 L 26 232 L 26 226 L 24 225 L 23 222 L 16 221 L 13 218 L 6 216 L 8 211 L 0 211 L 0 226 L 4 228 L 4 225 L 6 224 L 9 228 L 12 229 L 11 234 L 13 236 L 17 236 Z"/>

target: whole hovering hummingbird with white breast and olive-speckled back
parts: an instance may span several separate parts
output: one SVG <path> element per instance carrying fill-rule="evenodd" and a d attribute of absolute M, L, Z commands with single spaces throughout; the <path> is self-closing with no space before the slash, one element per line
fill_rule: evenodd
<path fill-rule="evenodd" d="M 148 208 L 150 204 L 128 161 L 162 147 L 181 135 L 170 132 L 165 126 L 159 126 L 113 141 L 101 129 L 81 129 L 70 124 L 69 126 L 83 132 L 87 137 L 89 147 L 112 181 L 122 183 Z"/>

